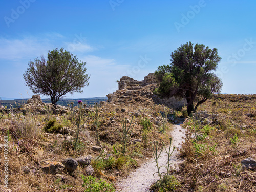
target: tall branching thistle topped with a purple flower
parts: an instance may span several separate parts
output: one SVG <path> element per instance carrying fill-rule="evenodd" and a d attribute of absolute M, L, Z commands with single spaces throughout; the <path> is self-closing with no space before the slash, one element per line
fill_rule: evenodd
<path fill-rule="evenodd" d="M 83 115 L 85 115 L 85 110 L 84 109 L 86 108 L 86 104 L 83 105 L 82 101 L 77 101 L 77 102 L 79 104 L 79 117 L 78 118 L 75 115 L 74 103 L 73 102 L 70 103 L 71 107 L 70 107 L 70 104 L 68 104 L 69 110 L 71 111 L 71 115 L 74 118 L 74 120 L 76 122 L 76 126 L 77 126 L 77 133 L 76 133 L 74 148 L 76 148 L 80 130 L 82 129 L 84 124 L 86 124 L 86 122 L 89 119 L 89 115 L 88 115 L 86 120 L 84 120 L 84 122 L 82 123 Z"/>

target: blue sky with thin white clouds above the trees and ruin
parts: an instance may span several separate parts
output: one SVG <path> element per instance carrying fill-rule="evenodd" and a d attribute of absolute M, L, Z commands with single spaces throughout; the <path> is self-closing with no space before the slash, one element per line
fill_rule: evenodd
<path fill-rule="evenodd" d="M 114 92 L 123 75 L 143 80 L 188 41 L 218 49 L 222 93 L 255 94 L 255 8 L 252 0 L 2 1 L 0 97 L 31 97 L 28 62 L 55 48 L 87 62 L 89 86 L 66 95 L 83 98 Z"/>

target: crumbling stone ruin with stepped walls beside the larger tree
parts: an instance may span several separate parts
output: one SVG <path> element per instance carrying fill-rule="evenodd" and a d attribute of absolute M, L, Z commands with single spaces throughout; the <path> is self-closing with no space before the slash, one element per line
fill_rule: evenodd
<path fill-rule="evenodd" d="M 151 102 L 155 104 L 163 104 L 168 108 L 181 109 L 186 105 L 184 99 L 160 98 L 153 92 L 158 87 L 157 79 L 154 73 L 150 73 L 144 77 L 144 80 L 137 81 L 131 77 L 123 76 L 118 82 L 118 90 L 112 94 L 108 94 L 108 103 L 125 104 L 143 102 L 145 105 Z"/>

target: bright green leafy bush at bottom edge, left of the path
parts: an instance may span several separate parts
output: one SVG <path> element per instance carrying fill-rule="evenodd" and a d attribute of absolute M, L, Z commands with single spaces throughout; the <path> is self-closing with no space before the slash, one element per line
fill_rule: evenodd
<path fill-rule="evenodd" d="M 106 183 L 102 179 L 97 180 L 93 176 L 85 177 L 82 175 L 84 192 L 115 192 L 112 184 Z"/>

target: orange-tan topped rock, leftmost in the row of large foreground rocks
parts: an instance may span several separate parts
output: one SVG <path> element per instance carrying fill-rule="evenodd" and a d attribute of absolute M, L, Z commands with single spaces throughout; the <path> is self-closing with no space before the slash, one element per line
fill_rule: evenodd
<path fill-rule="evenodd" d="M 53 175 L 60 174 L 65 167 L 62 163 L 57 161 L 40 161 L 39 164 L 43 172 Z"/>

